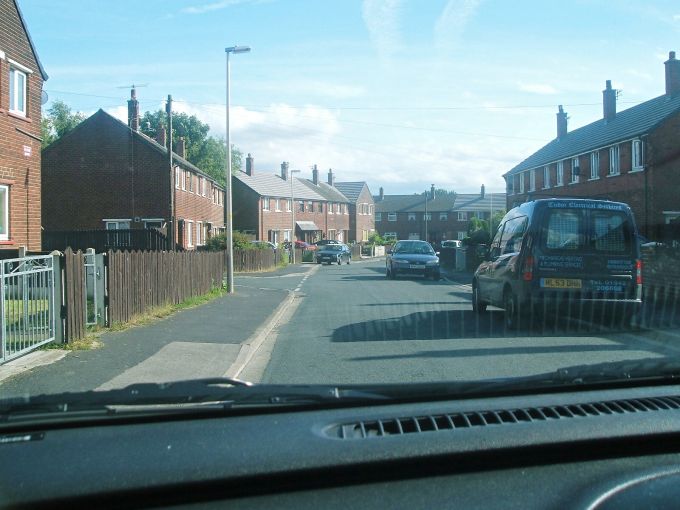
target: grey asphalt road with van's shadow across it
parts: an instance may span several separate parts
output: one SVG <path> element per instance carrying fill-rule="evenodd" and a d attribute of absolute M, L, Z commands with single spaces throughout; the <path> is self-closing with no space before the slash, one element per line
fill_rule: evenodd
<path fill-rule="evenodd" d="M 631 332 L 558 318 L 506 331 L 476 315 L 469 285 L 388 280 L 384 261 L 323 266 L 278 328 L 262 382 L 383 383 L 515 377 L 560 367 L 680 356 L 680 329 Z"/>

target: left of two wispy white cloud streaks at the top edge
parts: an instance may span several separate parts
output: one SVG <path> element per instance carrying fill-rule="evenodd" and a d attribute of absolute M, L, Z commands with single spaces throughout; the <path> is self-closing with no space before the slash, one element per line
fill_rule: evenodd
<path fill-rule="evenodd" d="M 391 57 L 399 48 L 400 7 L 401 0 L 364 0 L 364 23 L 381 59 Z"/>

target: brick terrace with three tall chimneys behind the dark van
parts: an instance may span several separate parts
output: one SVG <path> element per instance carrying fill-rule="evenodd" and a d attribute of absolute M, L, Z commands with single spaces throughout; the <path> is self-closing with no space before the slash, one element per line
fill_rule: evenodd
<path fill-rule="evenodd" d="M 621 112 L 607 80 L 603 118 L 574 131 L 557 113 L 557 137 L 503 177 L 508 207 L 535 198 L 578 197 L 625 202 L 640 231 L 663 237 L 680 218 L 680 61 L 665 62 L 666 92 Z"/>

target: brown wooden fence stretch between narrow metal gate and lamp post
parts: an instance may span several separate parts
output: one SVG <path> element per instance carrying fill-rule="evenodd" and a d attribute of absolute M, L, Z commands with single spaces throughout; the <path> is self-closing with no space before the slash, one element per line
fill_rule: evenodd
<path fill-rule="evenodd" d="M 225 253 L 108 251 L 106 266 L 111 325 L 221 286 Z"/>

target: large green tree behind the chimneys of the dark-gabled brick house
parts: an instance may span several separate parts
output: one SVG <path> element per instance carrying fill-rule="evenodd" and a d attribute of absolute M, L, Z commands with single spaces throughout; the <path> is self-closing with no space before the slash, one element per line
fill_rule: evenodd
<path fill-rule="evenodd" d="M 167 115 L 163 110 L 146 112 L 140 119 L 140 130 L 151 138 L 155 138 L 160 129 L 167 130 L 167 127 Z M 220 184 L 224 184 L 226 144 L 224 139 L 209 136 L 209 131 L 210 126 L 201 122 L 195 115 L 186 113 L 172 115 L 173 147 L 177 146 L 180 138 L 184 138 L 186 159 Z M 241 171 L 242 161 L 243 154 L 232 145 L 232 173 Z"/>

